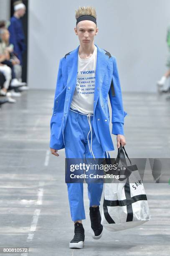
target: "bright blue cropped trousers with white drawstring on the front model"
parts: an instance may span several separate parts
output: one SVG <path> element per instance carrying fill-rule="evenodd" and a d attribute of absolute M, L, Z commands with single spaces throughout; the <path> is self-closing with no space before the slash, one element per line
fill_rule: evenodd
<path fill-rule="evenodd" d="M 74 112 L 75 111 L 75 112 Z M 77 110 L 69 110 L 69 115 L 64 130 L 66 158 L 91 159 L 95 157 L 103 159 L 105 152 L 93 129 L 93 116 L 82 115 Z M 91 132 L 90 131 L 91 125 Z M 89 135 L 88 135 L 89 134 Z M 92 141 L 91 141 L 92 138 Z M 92 143 L 91 143 L 92 142 Z M 92 151 L 91 151 L 92 150 Z M 71 219 L 86 219 L 83 199 L 83 182 L 66 183 L 68 189 Z M 100 205 L 103 183 L 88 183 L 89 206 Z"/>

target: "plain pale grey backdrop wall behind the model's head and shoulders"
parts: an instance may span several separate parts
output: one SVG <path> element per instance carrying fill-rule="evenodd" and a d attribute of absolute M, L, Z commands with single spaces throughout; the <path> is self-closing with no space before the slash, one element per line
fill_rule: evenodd
<path fill-rule="evenodd" d="M 54 89 L 58 61 L 79 45 L 75 9 L 96 8 L 95 43 L 116 56 L 122 91 L 156 91 L 167 69 L 169 0 L 29 1 L 28 84 Z"/>

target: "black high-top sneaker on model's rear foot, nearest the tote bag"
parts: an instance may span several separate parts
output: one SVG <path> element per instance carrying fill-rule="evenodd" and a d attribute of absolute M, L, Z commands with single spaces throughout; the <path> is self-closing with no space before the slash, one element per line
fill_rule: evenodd
<path fill-rule="evenodd" d="M 99 239 L 103 233 L 103 226 L 101 225 L 101 215 L 99 205 L 97 207 L 90 206 L 90 220 L 92 238 Z"/>

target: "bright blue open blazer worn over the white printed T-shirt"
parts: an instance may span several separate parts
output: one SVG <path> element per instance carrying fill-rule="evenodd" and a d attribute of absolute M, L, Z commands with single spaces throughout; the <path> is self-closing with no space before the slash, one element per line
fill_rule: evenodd
<path fill-rule="evenodd" d="M 97 47 L 97 59 L 93 127 L 103 151 L 112 151 L 114 146 L 109 130 L 108 95 L 112 106 L 112 134 L 124 135 L 124 117 L 127 113 L 123 109 L 116 59 L 108 51 L 99 48 L 96 44 L 95 46 Z M 53 115 L 50 123 L 50 148 L 61 149 L 65 147 L 64 128 L 76 88 L 78 50 L 79 46 L 60 59 Z"/>

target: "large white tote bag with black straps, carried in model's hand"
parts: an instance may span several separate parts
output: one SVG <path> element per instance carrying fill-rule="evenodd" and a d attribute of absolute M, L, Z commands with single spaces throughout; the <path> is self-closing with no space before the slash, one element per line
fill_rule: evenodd
<path fill-rule="evenodd" d="M 150 210 L 145 189 L 137 166 L 130 161 L 127 166 L 125 148 L 118 148 L 117 159 L 125 167 L 119 170 L 119 179 L 105 183 L 101 224 L 110 231 L 133 228 L 150 220 Z"/>

